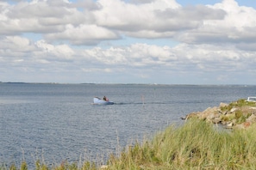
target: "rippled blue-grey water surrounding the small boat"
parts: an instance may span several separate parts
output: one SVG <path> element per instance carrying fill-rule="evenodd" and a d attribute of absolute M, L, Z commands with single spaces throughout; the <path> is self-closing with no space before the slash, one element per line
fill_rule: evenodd
<path fill-rule="evenodd" d="M 116 104 L 91 104 L 103 95 Z M 0 83 L 0 163 L 98 159 L 187 113 L 247 96 L 256 86 Z"/>

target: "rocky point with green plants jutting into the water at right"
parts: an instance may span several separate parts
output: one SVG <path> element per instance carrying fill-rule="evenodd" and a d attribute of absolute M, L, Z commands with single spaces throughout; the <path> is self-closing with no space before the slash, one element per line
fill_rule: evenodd
<path fill-rule="evenodd" d="M 183 119 L 199 118 L 226 128 L 245 129 L 256 123 L 256 102 L 245 99 L 209 107 L 203 112 L 190 112 Z"/>

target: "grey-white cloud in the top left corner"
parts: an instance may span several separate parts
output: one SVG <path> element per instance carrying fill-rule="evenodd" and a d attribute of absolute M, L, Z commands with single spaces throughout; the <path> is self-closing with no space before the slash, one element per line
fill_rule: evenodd
<path fill-rule="evenodd" d="M 67 24 L 78 26 L 94 21 L 91 12 L 78 11 L 66 1 L 32 1 L 16 5 L 4 3 L 0 7 L 0 34 L 58 33 L 65 31 Z"/>

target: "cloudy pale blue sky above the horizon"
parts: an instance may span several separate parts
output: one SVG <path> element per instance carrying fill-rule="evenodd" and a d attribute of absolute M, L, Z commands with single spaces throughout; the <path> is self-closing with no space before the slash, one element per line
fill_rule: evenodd
<path fill-rule="evenodd" d="M 255 0 L 0 0 L 0 82 L 256 85 Z"/>

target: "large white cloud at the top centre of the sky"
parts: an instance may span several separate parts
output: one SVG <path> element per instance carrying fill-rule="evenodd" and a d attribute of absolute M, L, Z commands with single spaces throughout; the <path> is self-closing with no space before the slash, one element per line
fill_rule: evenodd
<path fill-rule="evenodd" d="M 98 3 L 101 9 L 95 11 L 97 24 L 122 31 L 140 31 L 159 27 L 163 21 L 156 17 L 155 12 L 179 7 L 175 1 L 164 0 L 139 5 L 120 0 L 99 0 Z"/>

